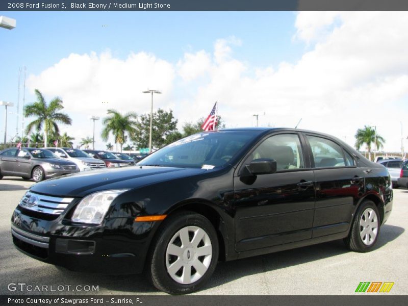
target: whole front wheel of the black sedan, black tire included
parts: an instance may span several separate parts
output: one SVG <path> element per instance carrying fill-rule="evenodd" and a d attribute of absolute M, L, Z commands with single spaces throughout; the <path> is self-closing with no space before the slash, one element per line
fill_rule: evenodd
<path fill-rule="evenodd" d="M 218 261 L 218 238 L 211 222 L 200 214 L 180 212 L 170 215 L 158 231 L 146 261 L 151 283 L 169 294 L 198 290 Z"/>

